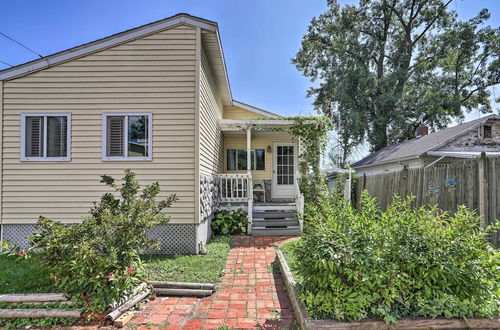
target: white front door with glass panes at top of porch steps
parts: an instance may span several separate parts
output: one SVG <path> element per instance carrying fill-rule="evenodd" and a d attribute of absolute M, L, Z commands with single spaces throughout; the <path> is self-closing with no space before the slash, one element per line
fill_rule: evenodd
<path fill-rule="evenodd" d="M 297 148 L 293 142 L 273 142 L 272 197 L 293 198 Z"/>

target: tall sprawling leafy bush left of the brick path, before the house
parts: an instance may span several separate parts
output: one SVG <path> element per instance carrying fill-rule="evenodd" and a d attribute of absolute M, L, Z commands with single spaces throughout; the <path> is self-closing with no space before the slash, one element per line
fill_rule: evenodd
<path fill-rule="evenodd" d="M 121 186 L 109 176 L 102 176 L 101 182 L 120 197 L 104 194 L 80 224 L 66 226 L 40 217 L 32 237 L 56 285 L 69 294 L 88 297 L 88 309 L 98 313 L 141 281 L 139 254 L 157 246 L 146 231 L 169 220 L 163 210 L 176 200 L 170 195 L 156 202 L 158 183 L 140 192 L 130 170 L 125 171 Z"/>

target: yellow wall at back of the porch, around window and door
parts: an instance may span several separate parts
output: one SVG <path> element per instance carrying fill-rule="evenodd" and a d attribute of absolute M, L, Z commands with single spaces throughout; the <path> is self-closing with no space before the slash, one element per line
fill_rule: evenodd
<path fill-rule="evenodd" d="M 273 159 L 272 152 L 267 152 L 267 146 L 273 146 L 273 141 L 292 141 L 291 136 L 283 135 L 283 137 L 254 137 L 252 138 L 252 150 L 266 150 L 265 170 L 252 171 L 252 178 L 257 180 L 271 180 L 273 176 Z M 246 136 L 225 136 L 224 137 L 224 172 L 225 173 L 246 173 L 246 171 L 228 171 L 227 170 L 227 149 L 243 149 L 247 148 Z"/>

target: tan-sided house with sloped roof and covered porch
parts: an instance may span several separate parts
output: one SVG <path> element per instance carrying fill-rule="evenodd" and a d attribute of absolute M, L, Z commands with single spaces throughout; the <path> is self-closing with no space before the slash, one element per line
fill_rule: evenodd
<path fill-rule="evenodd" d="M 179 14 L 0 71 L 0 116 L 1 239 L 80 221 L 100 175 L 129 168 L 179 198 L 150 233 L 161 252 L 198 253 L 221 207 L 248 208 L 255 235 L 300 230 L 291 122 L 233 100 L 215 22 Z"/>

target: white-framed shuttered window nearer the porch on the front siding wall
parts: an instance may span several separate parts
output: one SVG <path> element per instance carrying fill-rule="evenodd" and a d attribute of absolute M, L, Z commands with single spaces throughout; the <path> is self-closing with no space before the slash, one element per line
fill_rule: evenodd
<path fill-rule="evenodd" d="M 152 159 L 151 113 L 104 113 L 102 159 Z"/>

